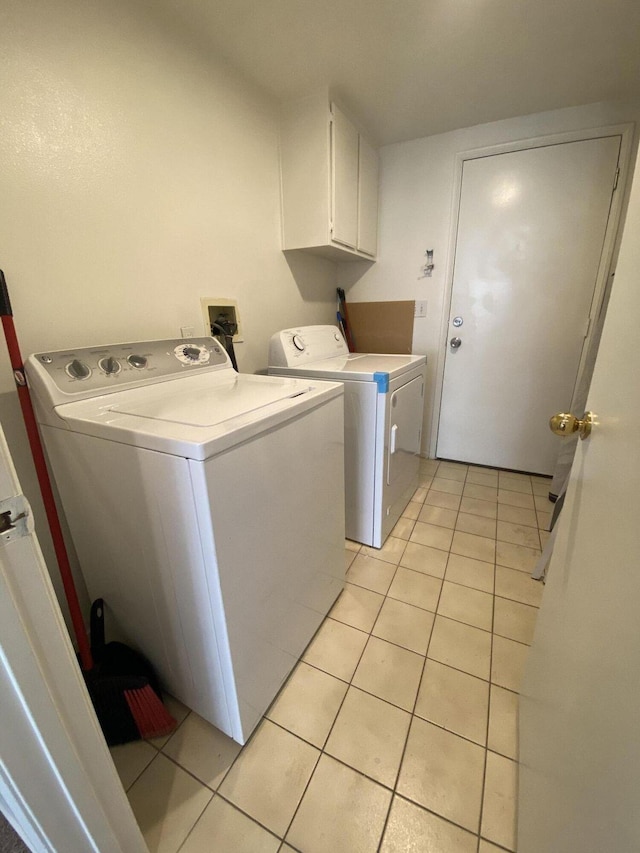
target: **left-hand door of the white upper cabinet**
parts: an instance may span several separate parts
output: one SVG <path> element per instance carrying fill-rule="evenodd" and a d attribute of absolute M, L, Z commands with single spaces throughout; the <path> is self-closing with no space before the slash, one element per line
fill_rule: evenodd
<path fill-rule="evenodd" d="M 358 242 L 358 131 L 332 105 L 331 209 L 332 240 L 355 249 Z"/>

